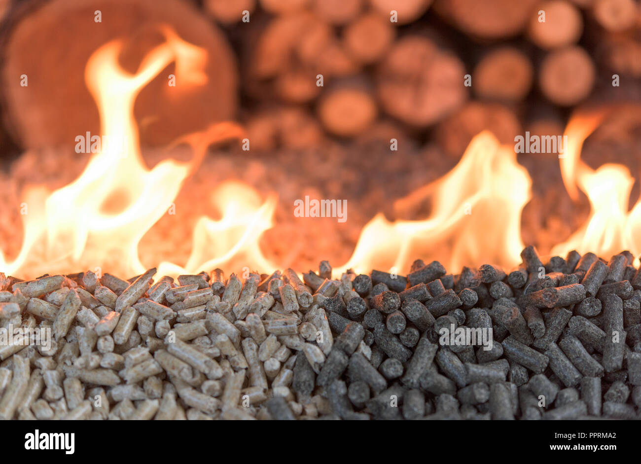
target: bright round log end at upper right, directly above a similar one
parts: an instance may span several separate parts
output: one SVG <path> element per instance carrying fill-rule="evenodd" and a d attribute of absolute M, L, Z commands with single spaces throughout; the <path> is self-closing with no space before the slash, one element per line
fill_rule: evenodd
<path fill-rule="evenodd" d="M 583 17 L 576 6 L 565 0 L 548 0 L 537 8 L 545 12 L 545 22 L 538 21 L 538 12 L 532 15 L 528 27 L 532 42 L 546 50 L 578 42 L 583 33 Z"/>

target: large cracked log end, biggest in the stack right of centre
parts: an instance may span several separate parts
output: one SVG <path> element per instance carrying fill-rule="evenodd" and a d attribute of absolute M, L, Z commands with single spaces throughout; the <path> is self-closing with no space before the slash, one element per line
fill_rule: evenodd
<path fill-rule="evenodd" d="M 415 127 L 426 127 L 467 99 L 465 67 L 425 37 L 397 40 L 380 63 L 376 92 L 385 111 Z"/>

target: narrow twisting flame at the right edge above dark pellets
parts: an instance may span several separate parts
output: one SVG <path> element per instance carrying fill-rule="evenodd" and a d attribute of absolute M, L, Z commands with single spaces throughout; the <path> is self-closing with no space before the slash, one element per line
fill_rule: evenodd
<path fill-rule="evenodd" d="M 599 256 L 612 256 L 624 250 L 635 256 L 641 253 L 641 199 L 629 210 L 635 179 L 628 168 L 606 163 L 592 169 L 580 158 L 583 142 L 609 111 L 573 115 L 565 129 L 568 152 L 560 160 L 563 183 L 574 201 L 578 200 L 578 190 L 587 195 L 590 215 L 566 242 L 553 248 L 553 254 L 565 256 L 572 249 L 579 253 L 592 251 Z"/>

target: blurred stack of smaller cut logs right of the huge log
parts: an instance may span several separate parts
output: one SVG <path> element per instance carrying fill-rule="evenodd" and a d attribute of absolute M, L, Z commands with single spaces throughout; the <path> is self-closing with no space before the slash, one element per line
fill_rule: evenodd
<path fill-rule="evenodd" d="M 594 97 L 599 74 L 641 75 L 633 0 L 211 0 L 205 8 L 255 31 L 241 33 L 244 90 L 262 108 L 249 116 L 250 134 L 270 149 L 282 131 L 277 115 L 295 107 L 313 127 L 308 144 L 322 140 L 319 126 L 362 138 L 392 119 L 408 133 L 437 128 L 458 157 L 483 129 L 504 143 L 524 125 L 556 134 L 560 110 Z M 258 19 L 243 24 L 240 8 Z M 524 106 L 532 95 L 543 110 Z"/>

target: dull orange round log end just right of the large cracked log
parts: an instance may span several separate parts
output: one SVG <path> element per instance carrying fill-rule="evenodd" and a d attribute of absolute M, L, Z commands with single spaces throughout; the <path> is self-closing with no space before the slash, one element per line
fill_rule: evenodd
<path fill-rule="evenodd" d="M 472 74 L 472 89 L 479 97 L 520 101 L 529 92 L 534 68 L 515 47 L 501 47 L 481 59 Z"/>

